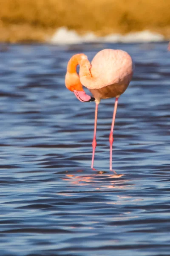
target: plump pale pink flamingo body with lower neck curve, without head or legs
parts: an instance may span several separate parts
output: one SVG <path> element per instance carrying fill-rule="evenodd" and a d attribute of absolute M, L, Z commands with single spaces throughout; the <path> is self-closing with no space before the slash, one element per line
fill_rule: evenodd
<path fill-rule="evenodd" d="M 91 76 L 86 76 L 80 66 L 81 83 L 87 87 L 97 102 L 100 99 L 119 97 L 127 89 L 133 75 L 133 61 L 122 50 L 103 49 L 91 61 Z"/>

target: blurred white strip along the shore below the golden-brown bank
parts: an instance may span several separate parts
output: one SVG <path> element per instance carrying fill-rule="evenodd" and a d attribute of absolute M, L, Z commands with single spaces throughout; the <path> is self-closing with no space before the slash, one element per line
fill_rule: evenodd
<path fill-rule="evenodd" d="M 163 41 L 164 36 L 144 30 L 142 32 L 128 33 L 126 35 L 111 34 L 105 37 L 97 37 L 94 33 L 89 32 L 83 36 L 77 34 L 74 30 L 68 30 L 65 27 L 57 29 L 52 36 L 51 44 L 80 44 L 84 42 L 158 42 Z"/>

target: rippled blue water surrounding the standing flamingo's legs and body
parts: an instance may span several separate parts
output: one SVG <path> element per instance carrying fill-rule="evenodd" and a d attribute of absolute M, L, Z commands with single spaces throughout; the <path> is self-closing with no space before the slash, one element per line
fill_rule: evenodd
<path fill-rule="evenodd" d="M 99 105 L 65 88 L 68 59 L 123 49 L 136 63 Z M 0 255 L 165 256 L 170 251 L 170 53 L 167 43 L 0 46 Z"/>

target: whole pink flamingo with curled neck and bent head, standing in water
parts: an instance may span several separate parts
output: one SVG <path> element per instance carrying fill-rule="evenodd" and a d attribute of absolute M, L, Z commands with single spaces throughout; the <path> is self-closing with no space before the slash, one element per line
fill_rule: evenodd
<path fill-rule="evenodd" d="M 76 67 L 79 64 L 79 75 Z M 73 91 L 75 96 L 82 102 L 96 102 L 93 156 L 91 168 L 94 164 L 96 148 L 97 111 L 100 99 L 116 97 L 113 120 L 111 125 L 110 141 L 110 170 L 112 169 L 112 145 L 113 128 L 119 96 L 125 92 L 133 75 L 133 62 L 130 55 L 122 50 L 104 49 L 96 54 L 92 62 L 88 61 L 85 54 L 72 56 L 67 66 L 65 76 L 66 87 Z M 82 88 L 82 84 L 94 95 L 95 99 L 88 96 Z"/>

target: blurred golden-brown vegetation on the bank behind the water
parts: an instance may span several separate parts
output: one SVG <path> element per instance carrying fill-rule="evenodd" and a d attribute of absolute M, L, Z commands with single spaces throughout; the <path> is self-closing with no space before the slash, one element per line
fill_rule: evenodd
<path fill-rule="evenodd" d="M 0 41 L 48 41 L 57 28 L 170 37 L 170 0 L 0 0 Z"/>

